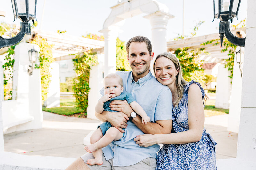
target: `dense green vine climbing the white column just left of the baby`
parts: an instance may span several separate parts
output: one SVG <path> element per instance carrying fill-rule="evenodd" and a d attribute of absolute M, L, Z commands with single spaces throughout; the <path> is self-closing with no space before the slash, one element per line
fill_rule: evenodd
<path fill-rule="evenodd" d="M 88 93 L 89 77 L 91 66 L 97 64 L 96 53 L 91 51 L 84 52 L 83 55 L 76 55 L 73 59 L 76 77 L 73 80 L 74 96 L 76 98 L 76 105 L 81 108 L 86 115 L 86 108 L 88 107 Z"/>

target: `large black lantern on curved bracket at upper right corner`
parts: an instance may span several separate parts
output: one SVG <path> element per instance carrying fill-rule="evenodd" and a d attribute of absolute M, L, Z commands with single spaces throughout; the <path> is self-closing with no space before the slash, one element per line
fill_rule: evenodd
<path fill-rule="evenodd" d="M 221 46 L 224 34 L 232 44 L 241 47 L 245 45 L 245 38 L 234 36 L 229 29 L 229 20 L 231 20 L 232 23 L 233 18 L 237 17 L 240 2 L 241 0 L 213 0 L 214 18 L 220 19 L 219 33 Z M 215 13 L 215 11 L 217 11 L 217 13 Z"/>

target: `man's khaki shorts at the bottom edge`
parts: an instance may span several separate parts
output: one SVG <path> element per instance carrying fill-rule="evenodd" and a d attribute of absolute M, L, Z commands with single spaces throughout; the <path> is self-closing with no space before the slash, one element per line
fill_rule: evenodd
<path fill-rule="evenodd" d="M 86 164 L 86 161 L 88 159 L 93 159 L 94 156 L 92 153 L 86 153 L 81 158 L 84 160 L 84 163 Z M 148 157 L 146 159 L 143 159 L 142 161 L 138 162 L 137 164 L 130 165 L 130 166 L 124 166 L 124 167 L 118 167 L 113 166 L 113 158 L 106 160 L 103 155 L 103 164 L 102 165 L 88 165 L 86 164 L 91 170 L 155 170 L 156 169 L 156 159 Z"/>

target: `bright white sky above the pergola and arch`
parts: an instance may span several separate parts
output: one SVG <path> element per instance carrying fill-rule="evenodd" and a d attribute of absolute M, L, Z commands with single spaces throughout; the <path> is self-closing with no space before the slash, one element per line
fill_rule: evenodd
<path fill-rule="evenodd" d="M 44 15 L 43 6 L 45 1 Z M 66 30 L 69 35 L 82 36 L 87 33 L 102 35 L 98 31 L 102 29 L 105 19 L 110 14 L 110 7 L 117 4 L 118 0 L 37 0 L 38 28 L 57 32 Z M 216 1 L 216 0 L 215 0 Z M 182 8 L 183 0 L 158 0 L 169 8 L 169 13 L 175 18 L 169 20 L 167 26 L 167 41 L 182 34 Z M 10 0 L 0 0 L 0 11 L 5 11 L 6 16 L 0 16 L 0 23 L 13 23 L 12 4 Z M 148 19 L 141 14 L 126 20 L 121 27 L 122 33 L 118 37 L 122 41 L 128 41 L 136 35 L 146 36 L 151 39 L 151 25 Z M 237 24 L 247 15 L 247 0 L 242 0 Z M 199 21 L 204 23 L 199 27 L 196 36 L 218 33 L 219 19 L 213 20 L 213 0 L 185 0 L 185 35 L 190 35 L 194 26 Z M 20 25 L 20 20 L 14 22 Z"/>

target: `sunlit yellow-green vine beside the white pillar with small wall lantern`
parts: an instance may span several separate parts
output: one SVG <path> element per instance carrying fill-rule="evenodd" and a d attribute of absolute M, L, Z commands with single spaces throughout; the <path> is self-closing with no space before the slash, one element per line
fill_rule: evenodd
<path fill-rule="evenodd" d="M 47 43 L 47 40 L 36 36 L 36 38 L 31 42 L 32 44 L 37 44 L 40 48 L 40 72 L 41 72 L 41 90 L 42 90 L 42 104 L 47 99 L 47 93 L 49 90 L 50 85 L 50 64 L 54 61 L 52 56 L 52 47 L 53 45 L 50 45 Z"/>

